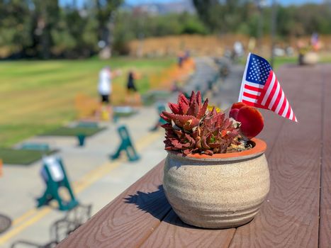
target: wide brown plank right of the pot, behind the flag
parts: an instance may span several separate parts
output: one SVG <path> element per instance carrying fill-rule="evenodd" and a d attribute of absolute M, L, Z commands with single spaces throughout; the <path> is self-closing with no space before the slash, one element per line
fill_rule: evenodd
<path fill-rule="evenodd" d="M 267 157 L 267 201 L 252 222 L 237 228 L 230 247 L 318 247 L 320 71 L 292 67 L 277 74 L 299 123 L 284 122 Z"/>

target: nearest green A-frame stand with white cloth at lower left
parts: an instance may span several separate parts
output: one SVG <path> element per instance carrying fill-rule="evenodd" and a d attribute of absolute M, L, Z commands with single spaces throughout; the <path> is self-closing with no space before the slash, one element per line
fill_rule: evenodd
<path fill-rule="evenodd" d="M 64 170 L 64 166 L 62 164 L 61 159 L 56 159 L 58 164 L 60 165 L 60 169 L 62 169 L 63 178 L 60 181 L 55 180 L 50 172 L 50 168 L 48 164 L 43 165 L 43 170 L 45 170 L 45 183 L 46 183 L 46 189 L 43 193 L 43 196 L 37 199 L 38 205 L 37 208 L 42 207 L 43 205 L 47 205 L 50 201 L 53 199 L 59 203 L 59 209 L 60 210 L 70 210 L 77 206 L 79 203 L 74 197 L 74 193 L 72 192 L 72 188 L 69 184 L 69 179 L 67 178 L 67 174 Z M 69 195 L 71 197 L 71 200 L 69 202 L 62 200 L 60 197 L 58 191 L 60 187 L 67 188 L 67 191 L 69 192 Z"/>

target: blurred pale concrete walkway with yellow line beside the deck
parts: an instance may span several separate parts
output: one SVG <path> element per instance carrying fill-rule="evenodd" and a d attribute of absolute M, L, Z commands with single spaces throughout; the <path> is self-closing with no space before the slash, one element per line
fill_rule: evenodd
<path fill-rule="evenodd" d="M 198 84 L 206 86 L 206 78 L 217 72 L 210 58 L 198 59 L 196 65 L 197 73 L 187 90 L 195 89 Z M 162 142 L 164 131 L 149 132 L 156 121 L 155 107 L 140 108 L 136 115 L 120 118 L 118 124 L 101 123 L 107 129 L 88 137 L 85 147 L 77 147 L 75 137 L 32 137 L 25 142 L 47 142 L 50 147 L 60 149 L 58 155 L 63 159 L 78 200 L 92 203 L 94 214 L 166 157 Z M 116 131 L 120 124 L 128 126 L 141 156 L 138 162 L 128 162 L 125 156 L 115 161 L 108 159 L 120 141 Z M 35 208 L 35 198 L 45 187 L 39 176 L 41 166 L 40 161 L 26 167 L 4 166 L 4 176 L 0 178 L 0 210 L 13 219 L 13 225 L 0 235 L 0 247 L 10 247 L 18 239 L 48 242 L 50 225 L 64 215 L 52 207 Z"/>

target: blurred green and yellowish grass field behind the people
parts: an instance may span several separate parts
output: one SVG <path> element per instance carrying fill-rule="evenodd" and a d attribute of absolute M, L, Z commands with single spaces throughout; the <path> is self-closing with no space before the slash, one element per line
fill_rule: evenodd
<path fill-rule="evenodd" d="M 122 76 L 113 80 L 113 89 L 123 94 L 128 70 L 141 74 L 137 87 L 144 93 L 150 87 L 148 77 L 175 62 L 173 58 L 128 57 L 0 62 L 0 147 L 10 147 L 73 120 L 75 96 L 82 93 L 98 98 L 98 74 L 106 65 L 122 70 Z"/>

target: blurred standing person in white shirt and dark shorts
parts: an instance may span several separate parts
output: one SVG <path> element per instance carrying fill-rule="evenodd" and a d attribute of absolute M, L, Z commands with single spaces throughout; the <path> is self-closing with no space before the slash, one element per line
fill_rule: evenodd
<path fill-rule="evenodd" d="M 99 72 L 98 92 L 101 103 L 110 103 L 111 86 L 111 67 L 103 67 Z"/>

